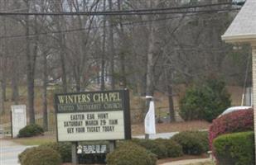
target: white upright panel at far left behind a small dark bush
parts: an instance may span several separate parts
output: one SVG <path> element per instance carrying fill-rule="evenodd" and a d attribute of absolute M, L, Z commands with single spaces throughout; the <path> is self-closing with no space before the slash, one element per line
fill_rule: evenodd
<path fill-rule="evenodd" d="M 12 106 L 12 138 L 16 138 L 19 131 L 27 125 L 26 106 Z"/>

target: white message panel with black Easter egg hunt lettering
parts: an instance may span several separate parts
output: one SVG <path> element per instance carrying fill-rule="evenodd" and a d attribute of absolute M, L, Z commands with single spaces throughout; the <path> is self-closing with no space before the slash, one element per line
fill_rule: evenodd
<path fill-rule="evenodd" d="M 59 113 L 57 125 L 59 141 L 124 139 L 123 111 Z"/>

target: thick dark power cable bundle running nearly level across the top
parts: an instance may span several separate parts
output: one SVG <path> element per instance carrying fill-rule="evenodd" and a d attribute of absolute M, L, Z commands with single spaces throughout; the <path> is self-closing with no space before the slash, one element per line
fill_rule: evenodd
<path fill-rule="evenodd" d="M 199 10 L 199 11 L 171 11 L 177 9 L 191 9 L 198 7 L 214 7 L 231 5 L 231 3 L 214 3 L 187 7 L 167 7 L 167 8 L 151 8 L 151 9 L 137 9 L 137 10 L 125 10 L 125 11 L 103 11 L 103 12 L 0 12 L 0 16 L 123 16 L 123 15 L 160 15 L 160 14 L 180 14 L 180 13 L 194 13 L 194 12 L 220 12 L 227 10 L 212 9 L 212 10 Z M 231 8 L 237 10 L 238 8 Z"/>

